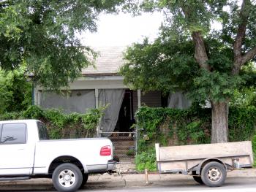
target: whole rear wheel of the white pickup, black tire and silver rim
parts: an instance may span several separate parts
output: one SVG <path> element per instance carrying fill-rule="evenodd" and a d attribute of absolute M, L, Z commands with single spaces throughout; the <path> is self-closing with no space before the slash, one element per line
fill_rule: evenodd
<path fill-rule="evenodd" d="M 53 186 L 60 192 L 74 192 L 83 182 L 83 174 L 74 164 L 61 164 L 54 169 Z"/>

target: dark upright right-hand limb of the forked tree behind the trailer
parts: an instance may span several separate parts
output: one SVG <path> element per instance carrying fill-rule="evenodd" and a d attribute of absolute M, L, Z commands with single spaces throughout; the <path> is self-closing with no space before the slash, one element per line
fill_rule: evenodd
<path fill-rule="evenodd" d="M 236 40 L 233 45 L 233 52 L 234 52 L 234 66 L 232 69 L 232 74 L 238 74 L 238 72 L 241 69 L 242 64 L 242 53 L 241 53 L 241 47 L 242 43 L 244 41 L 245 32 L 246 32 L 246 26 L 247 21 L 249 18 L 249 12 L 250 12 L 250 0 L 243 0 L 243 3 L 241 5 L 241 11 L 239 14 L 239 17 L 241 19 L 241 23 L 238 26 L 238 32 L 236 35 Z"/>

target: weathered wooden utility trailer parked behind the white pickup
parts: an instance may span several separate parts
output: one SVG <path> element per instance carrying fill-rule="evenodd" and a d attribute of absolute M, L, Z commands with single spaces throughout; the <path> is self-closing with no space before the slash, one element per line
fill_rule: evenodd
<path fill-rule="evenodd" d="M 228 171 L 252 167 L 252 142 L 159 147 L 157 169 L 161 174 L 189 174 L 197 183 L 219 187 Z"/>

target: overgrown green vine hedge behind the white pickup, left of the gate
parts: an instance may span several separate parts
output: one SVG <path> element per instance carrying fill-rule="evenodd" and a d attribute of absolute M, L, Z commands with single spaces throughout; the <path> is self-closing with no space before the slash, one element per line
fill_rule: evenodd
<path fill-rule="evenodd" d="M 44 122 L 49 131 L 50 139 L 94 137 L 99 119 L 105 107 L 91 109 L 85 114 L 65 114 L 61 110 L 42 108 L 32 105 L 22 112 L 5 112 L 0 120 L 38 119 Z"/>

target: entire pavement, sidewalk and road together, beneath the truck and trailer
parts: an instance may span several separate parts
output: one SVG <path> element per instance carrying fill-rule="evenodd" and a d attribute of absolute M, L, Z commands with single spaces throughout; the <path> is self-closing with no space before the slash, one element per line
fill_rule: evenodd
<path fill-rule="evenodd" d="M 208 188 L 195 183 L 192 177 L 182 174 L 149 174 L 146 185 L 145 174 L 94 174 L 80 191 L 200 191 L 200 192 L 256 192 L 256 169 L 229 172 L 225 185 Z M 0 191 L 54 191 L 48 179 L 0 182 Z"/>

